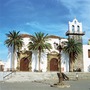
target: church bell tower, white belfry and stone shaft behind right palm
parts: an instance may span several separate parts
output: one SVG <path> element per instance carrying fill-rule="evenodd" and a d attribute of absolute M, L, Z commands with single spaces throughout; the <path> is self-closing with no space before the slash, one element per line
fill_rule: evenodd
<path fill-rule="evenodd" d="M 73 38 L 74 40 L 81 42 L 83 45 L 83 35 L 85 35 L 85 33 L 82 31 L 82 23 L 78 22 L 76 18 L 72 22 L 69 21 L 66 36 L 68 36 L 68 38 Z M 83 53 L 81 53 L 78 56 L 77 60 L 75 60 L 74 69 L 78 68 L 80 68 L 83 71 Z"/>

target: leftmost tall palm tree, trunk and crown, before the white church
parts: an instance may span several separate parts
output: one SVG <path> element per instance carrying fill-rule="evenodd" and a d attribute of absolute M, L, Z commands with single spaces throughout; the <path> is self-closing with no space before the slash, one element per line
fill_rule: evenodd
<path fill-rule="evenodd" d="M 5 44 L 8 48 L 12 47 L 12 49 L 13 49 L 12 50 L 13 53 L 12 53 L 12 56 L 11 56 L 12 57 L 11 58 L 11 60 L 12 60 L 12 67 L 11 67 L 12 70 L 15 69 L 15 67 L 14 67 L 15 52 L 19 52 L 20 47 L 22 47 L 22 44 L 23 44 L 22 37 L 19 34 L 19 32 L 20 31 L 16 32 L 16 31 L 13 30 L 12 32 L 9 31 L 9 33 L 6 34 L 8 39 L 5 40 Z"/>

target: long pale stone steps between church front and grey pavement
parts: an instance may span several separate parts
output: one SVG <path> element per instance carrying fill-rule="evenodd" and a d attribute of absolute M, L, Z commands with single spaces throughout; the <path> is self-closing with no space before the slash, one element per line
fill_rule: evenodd
<path fill-rule="evenodd" d="M 90 79 L 90 73 L 83 72 L 65 72 L 70 80 L 76 79 L 78 73 L 79 79 Z M 36 80 L 58 80 L 57 72 L 16 72 L 6 81 L 36 81 Z"/>

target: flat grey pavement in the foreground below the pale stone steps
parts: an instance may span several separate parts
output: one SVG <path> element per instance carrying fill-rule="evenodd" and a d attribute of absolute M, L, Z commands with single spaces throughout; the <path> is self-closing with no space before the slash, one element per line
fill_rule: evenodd
<path fill-rule="evenodd" d="M 69 88 L 50 87 L 50 80 L 33 82 L 0 82 L 0 90 L 90 90 L 90 80 L 65 81 Z"/>

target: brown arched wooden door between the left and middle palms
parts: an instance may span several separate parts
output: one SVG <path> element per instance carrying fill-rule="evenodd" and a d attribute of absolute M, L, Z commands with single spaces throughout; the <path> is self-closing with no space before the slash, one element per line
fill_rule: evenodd
<path fill-rule="evenodd" d="M 20 71 L 29 71 L 29 60 L 28 60 L 28 58 L 22 58 L 20 60 Z"/>

